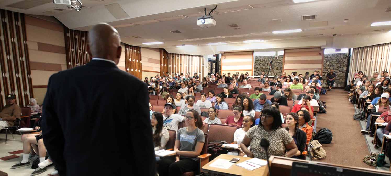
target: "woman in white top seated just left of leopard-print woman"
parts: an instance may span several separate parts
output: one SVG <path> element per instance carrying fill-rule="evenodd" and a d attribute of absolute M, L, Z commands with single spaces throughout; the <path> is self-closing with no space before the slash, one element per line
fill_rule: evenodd
<path fill-rule="evenodd" d="M 238 144 L 237 149 L 234 151 L 228 152 L 227 154 L 236 155 L 236 156 L 246 156 L 246 154 L 240 149 L 240 144 L 242 143 L 242 140 L 244 136 L 246 135 L 246 132 L 255 125 L 255 119 L 251 115 L 245 115 L 243 117 L 242 127 L 235 131 L 233 134 L 233 144 Z"/>

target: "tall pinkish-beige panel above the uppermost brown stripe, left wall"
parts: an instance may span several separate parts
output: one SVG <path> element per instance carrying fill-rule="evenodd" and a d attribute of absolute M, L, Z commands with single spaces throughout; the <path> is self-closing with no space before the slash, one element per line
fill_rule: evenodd
<path fill-rule="evenodd" d="M 57 32 L 33 25 L 26 25 L 26 33 L 29 41 L 65 47 L 64 32 Z"/>

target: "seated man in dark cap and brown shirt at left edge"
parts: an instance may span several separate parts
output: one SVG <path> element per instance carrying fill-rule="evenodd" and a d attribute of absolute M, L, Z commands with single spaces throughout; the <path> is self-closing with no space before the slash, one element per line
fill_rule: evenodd
<path fill-rule="evenodd" d="M 20 114 L 22 113 L 22 110 L 16 104 L 15 95 L 9 94 L 5 99 L 8 104 L 4 106 L 0 113 L 0 130 L 9 126 L 14 126 L 16 119 L 20 119 Z"/>

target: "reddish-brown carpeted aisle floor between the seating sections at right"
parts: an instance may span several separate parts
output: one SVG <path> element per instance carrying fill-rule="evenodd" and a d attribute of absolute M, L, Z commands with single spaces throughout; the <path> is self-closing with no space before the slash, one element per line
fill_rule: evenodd
<path fill-rule="evenodd" d="M 331 144 L 322 144 L 327 156 L 318 161 L 375 169 L 362 162 L 362 158 L 369 154 L 369 149 L 360 133 L 359 121 L 353 120 L 355 109 L 348 101 L 347 92 L 342 89 L 331 90 L 321 95 L 320 100 L 326 101 L 327 112 L 318 115 L 317 131 L 321 128 L 330 129 L 333 140 Z"/>

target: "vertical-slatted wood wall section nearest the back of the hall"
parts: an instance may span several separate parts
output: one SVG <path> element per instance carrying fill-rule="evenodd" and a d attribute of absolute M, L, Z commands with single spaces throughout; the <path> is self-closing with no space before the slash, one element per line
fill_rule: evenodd
<path fill-rule="evenodd" d="M 160 49 L 160 75 L 169 72 L 171 75 L 190 73 L 193 76 L 196 72 L 199 77 L 203 77 L 204 60 L 204 56 L 174 54 Z"/>

